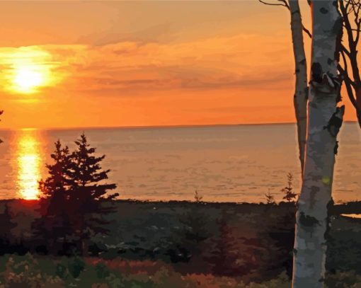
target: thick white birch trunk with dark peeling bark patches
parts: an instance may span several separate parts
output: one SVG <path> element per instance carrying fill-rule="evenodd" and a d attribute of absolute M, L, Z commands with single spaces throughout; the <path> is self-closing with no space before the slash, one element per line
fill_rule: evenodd
<path fill-rule="evenodd" d="M 337 74 L 342 18 L 337 1 L 312 2 L 312 66 L 309 87 L 306 154 L 297 202 L 292 287 L 323 287 L 336 137 L 344 106 Z"/>

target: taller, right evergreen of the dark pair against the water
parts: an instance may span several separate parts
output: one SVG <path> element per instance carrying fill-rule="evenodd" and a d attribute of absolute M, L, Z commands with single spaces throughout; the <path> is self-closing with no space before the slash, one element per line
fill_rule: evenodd
<path fill-rule="evenodd" d="M 107 195 L 115 184 L 105 183 L 110 170 L 102 170 L 103 156 L 94 156 L 96 149 L 91 147 L 85 134 L 76 140 L 76 150 L 71 153 L 69 179 L 69 209 L 70 221 L 76 236 L 79 238 L 83 255 L 88 255 L 88 242 L 92 234 L 108 234 L 105 227 L 109 222 L 103 215 L 115 211 L 112 205 L 107 205 L 118 193 Z"/>

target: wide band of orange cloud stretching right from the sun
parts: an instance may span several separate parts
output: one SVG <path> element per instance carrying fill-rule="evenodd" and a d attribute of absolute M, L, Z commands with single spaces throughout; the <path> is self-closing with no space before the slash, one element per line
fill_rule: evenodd
<path fill-rule="evenodd" d="M 102 96 L 107 91 L 282 89 L 292 79 L 291 57 L 285 55 L 290 51 L 281 35 L 2 48 L 0 65 L 25 59 L 18 56 L 25 52 L 32 62 L 52 65 L 54 78 L 61 79 L 55 85 L 68 91 L 102 91 Z"/>

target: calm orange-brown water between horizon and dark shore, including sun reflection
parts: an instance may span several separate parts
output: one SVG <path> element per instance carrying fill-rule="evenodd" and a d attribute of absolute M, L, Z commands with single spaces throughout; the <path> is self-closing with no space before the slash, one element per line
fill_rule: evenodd
<path fill-rule="evenodd" d="M 38 195 L 54 142 L 74 148 L 83 130 L 1 131 L 0 198 Z M 239 125 L 135 129 L 86 129 L 88 141 L 105 154 L 103 168 L 122 199 L 260 202 L 270 191 L 282 199 L 287 172 L 299 190 L 295 125 Z M 347 123 L 340 133 L 333 197 L 361 200 L 361 132 Z"/>

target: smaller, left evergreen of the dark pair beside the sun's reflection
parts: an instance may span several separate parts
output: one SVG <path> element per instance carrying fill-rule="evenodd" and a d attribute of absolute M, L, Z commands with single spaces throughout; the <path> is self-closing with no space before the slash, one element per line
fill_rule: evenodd
<path fill-rule="evenodd" d="M 40 197 L 40 219 L 37 219 L 33 228 L 35 235 L 47 240 L 47 250 L 56 253 L 57 241 L 71 234 L 69 223 L 69 179 L 67 170 L 70 168 L 70 154 L 67 146 L 62 148 L 58 140 L 55 142 L 55 151 L 50 155 L 53 164 L 47 164 L 49 177 L 40 180 L 39 188 L 42 192 Z"/>

